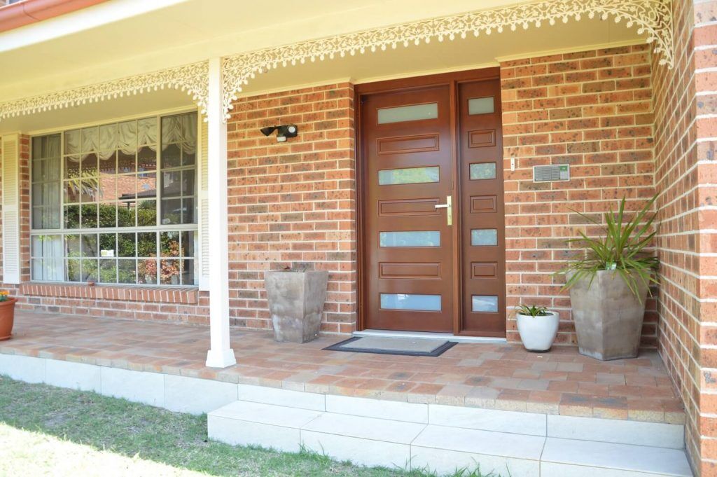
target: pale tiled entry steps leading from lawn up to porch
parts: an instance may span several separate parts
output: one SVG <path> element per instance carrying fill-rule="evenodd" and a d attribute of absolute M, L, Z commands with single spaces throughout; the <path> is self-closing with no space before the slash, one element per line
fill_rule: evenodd
<path fill-rule="evenodd" d="M 281 395 L 276 391 L 270 393 L 273 402 Z M 331 410 L 239 400 L 209 412 L 209 438 L 279 450 L 303 447 L 366 466 L 420 468 L 439 474 L 480 466 L 483 473 L 516 477 L 693 475 L 674 428 L 645 428 L 650 423 L 630 421 L 614 421 L 618 427 L 611 428 L 614 422 L 604 419 L 571 421 L 566 416 L 444 409 L 452 406 L 434 406 L 422 413 L 410 403 L 392 403 L 399 406 L 389 405 L 387 412 L 381 410 L 383 401 L 346 399 L 328 405 Z M 394 416 L 399 419 L 391 419 Z M 650 435 L 665 429 L 667 436 Z M 632 444 L 604 442 L 630 440 L 630 435 Z M 635 440 L 652 445 L 634 445 Z"/>

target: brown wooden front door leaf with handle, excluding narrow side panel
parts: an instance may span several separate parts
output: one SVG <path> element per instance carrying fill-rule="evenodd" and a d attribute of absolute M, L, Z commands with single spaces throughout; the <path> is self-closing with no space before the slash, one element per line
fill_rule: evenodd
<path fill-rule="evenodd" d="M 369 327 L 452 329 L 453 245 L 449 88 L 370 95 L 366 161 L 366 306 Z"/>

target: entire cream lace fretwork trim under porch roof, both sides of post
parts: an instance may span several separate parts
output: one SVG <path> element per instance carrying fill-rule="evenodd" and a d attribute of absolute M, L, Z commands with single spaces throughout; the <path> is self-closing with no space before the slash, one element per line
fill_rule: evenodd
<path fill-rule="evenodd" d="M 583 16 L 599 16 L 602 19 L 612 16 L 615 22 L 625 22 L 627 27 L 636 26 L 637 32 L 646 34 L 646 41 L 654 44 L 655 52 L 662 55 L 660 64 L 673 67 L 671 0 L 545 0 L 314 39 L 225 57 L 222 60 L 222 106 L 226 118 L 229 118 L 232 101 L 237 99 L 237 93 L 242 90 L 242 86 L 247 85 L 257 74 L 279 65 L 331 59 L 336 55 L 343 57 L 347 54 L 363 54 L 389 47 L 397 48 L 399 45 L 407 47 L 409 44 L 429 43 L 432 39 L 442 42 L 444 39 L 465 38 L 468 34 L 478 36 L 481 33 L 500 33 L 506 28 L 516 30 L 519 27 L 541 27 L 543 22 L 555 24 L 568 22 L 569 19 L 579 20 Z M 189 93 L 204 113 L 209 100 L 209 62 L 10 100 L 0 103 L 0 120 L 166 87 Z"/>

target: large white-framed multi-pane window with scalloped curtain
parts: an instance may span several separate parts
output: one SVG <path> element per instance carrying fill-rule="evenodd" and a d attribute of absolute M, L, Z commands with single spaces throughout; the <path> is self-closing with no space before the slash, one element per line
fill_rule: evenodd
<path fill-rule="evenodd" d="M 32 279 L 196 284 L 196 118 L 32 138 Z"/>

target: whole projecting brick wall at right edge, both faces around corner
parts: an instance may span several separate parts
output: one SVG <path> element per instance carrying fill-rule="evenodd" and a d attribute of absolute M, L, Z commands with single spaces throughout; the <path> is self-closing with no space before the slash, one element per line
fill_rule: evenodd
<path fill-rule="evenodd" d="M 673 8 L 675 68 L 653 67 L 659 349 L 685 402 L 693 467 L 706 477 L 717 476 L 717 1 Z"/>

